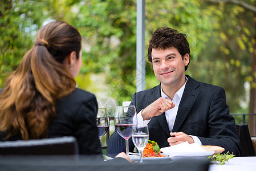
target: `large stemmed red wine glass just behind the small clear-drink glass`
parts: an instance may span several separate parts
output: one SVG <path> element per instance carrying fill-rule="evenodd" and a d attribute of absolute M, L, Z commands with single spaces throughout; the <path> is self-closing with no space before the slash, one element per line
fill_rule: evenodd
<path fill-rule="evenodd" d="M 117 106 L 115 111 L 115 127 L 125 139 L 126 154 L 129 155 L 129 138 L 132 136 L 132 126 L 137 125 L 137 112 L 134 105 Z"/>

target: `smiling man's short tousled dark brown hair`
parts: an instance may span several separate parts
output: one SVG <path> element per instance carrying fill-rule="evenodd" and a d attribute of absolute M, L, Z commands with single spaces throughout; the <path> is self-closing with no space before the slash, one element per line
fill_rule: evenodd
<path fill-rule="evenodd" d="M 148 60 L 152 63 L 152 48 L 165 50 L 172 46 L 176 47 L 178 52 L 180 52 L 182 60 L 184 59 L 185 54 L 190 56 L 189 43 L 186 39 L 186 34 L 180 33 L 169 27 L 157 28 L 149 40 Z M 185 71 L 188 68 L 188 65 L 185 66 Z"/>

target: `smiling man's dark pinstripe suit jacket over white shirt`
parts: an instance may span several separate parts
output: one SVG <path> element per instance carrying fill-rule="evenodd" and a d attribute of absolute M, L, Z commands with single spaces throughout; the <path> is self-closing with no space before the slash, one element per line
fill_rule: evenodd
<path fill-rule="evenodd" d="M 240 147 L 235 120 L 229 115 L 226 104 L 225 91 L 221 87 L 200 83 L 186 75 L 184 93 L 178 107 L 173 132 L 184 132 L 197 136 L 202 145 L 218 145 L 225 148 L 225 152 L 233 152 L 239 156 Z M 160 85 L 145 91 L 134 93 L 132 105 L 137 112 L 161 97 Z M 169 127 L 165 113 L 152 117 L 148 124 L 149 140 L 154 140 L 160 148 L 169 146 Z M 133 150 L 132 140 L 129 140 L 129 149 Z M 125 152 L 125 141 L 114 132 L 108 141 L 108 154 L 114 156 Z"/>

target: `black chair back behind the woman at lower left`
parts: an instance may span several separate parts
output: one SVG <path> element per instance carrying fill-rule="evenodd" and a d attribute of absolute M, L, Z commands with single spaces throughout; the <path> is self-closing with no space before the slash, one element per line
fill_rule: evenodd
<path fill-rule="evenodd" d="M 78 144 L 75 137 L 2 141 L 0 154 L 75 155 L 78 154 Z"/>

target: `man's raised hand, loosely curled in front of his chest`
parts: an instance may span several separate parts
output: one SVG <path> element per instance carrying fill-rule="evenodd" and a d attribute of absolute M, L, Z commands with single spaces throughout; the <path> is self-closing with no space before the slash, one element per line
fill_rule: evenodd
<path fill-rule="evenodd" d="M 149 104 L 145 109 L 143 109 L 143 111 L 141 112 L 141 116 L 143 117 L 143 120 L 149 120 L 153 116 L 159 116 L 163 112 L 174 108 L 174 106 L 175 104 L 172 103 L 171 100 L 160 97 L 153 103 Z"/>

